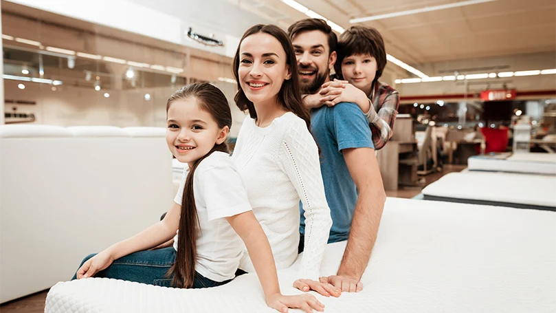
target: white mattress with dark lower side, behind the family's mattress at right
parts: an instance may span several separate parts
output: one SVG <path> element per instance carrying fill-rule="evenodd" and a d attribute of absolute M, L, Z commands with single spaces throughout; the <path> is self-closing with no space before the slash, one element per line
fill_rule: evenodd
<path fill-rule="evenodd" d="M 556 207 L 556 176 L 465 171 L 423 188 L 425 196 Z"/>

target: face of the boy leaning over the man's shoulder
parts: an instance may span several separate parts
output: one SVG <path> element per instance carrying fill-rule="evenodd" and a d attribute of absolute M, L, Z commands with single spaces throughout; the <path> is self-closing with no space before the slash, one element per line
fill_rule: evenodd
<path fill-rule="evenodd" d="M 342 76 L 351 85 L 370 94 L 372 80 L 377 74 L 377 60 L 369 54 L 346 56 L 342 61 Z"/>

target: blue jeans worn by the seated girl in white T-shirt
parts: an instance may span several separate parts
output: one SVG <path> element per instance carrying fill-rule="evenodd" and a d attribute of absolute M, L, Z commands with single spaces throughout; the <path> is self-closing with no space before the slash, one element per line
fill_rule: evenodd
<path fill-rule="evenodd" d="M 81 266 L 95 255 L 85 257 L 81 262 Z M 124 281 L 146 283 L 148 285 L 172 287 L 172 277 L 166 277 L 166 273 L 173 266 L 175 260 L 176 250 L 173 247 L 139 251 L 113 261 L 108 268 L 96 273 L 94 277 L 122 279 Z M 74 274 L 71 280 L 77 278 L 76 274 Z M 230 280 L 212 281 L 196 272 L 192 288 L 216 287 L 224 285 L 230 282 Z"/>

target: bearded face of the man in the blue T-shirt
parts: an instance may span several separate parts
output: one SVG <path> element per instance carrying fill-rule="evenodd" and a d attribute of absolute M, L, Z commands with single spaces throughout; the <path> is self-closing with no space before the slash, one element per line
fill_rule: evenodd
<path fill-rule="evenodd" d="M 300 32 L 291 39 L 298 59 L 298 72 L 304 93 L 315 94 L 329 78 L 336 61 L 330 53 L 328 38 L 320 30 Z"/>

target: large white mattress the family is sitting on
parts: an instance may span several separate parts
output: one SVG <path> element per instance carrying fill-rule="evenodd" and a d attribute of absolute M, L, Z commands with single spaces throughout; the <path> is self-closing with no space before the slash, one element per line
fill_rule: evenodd
<path fill-rule="evenodd" d="M 555 312 L 555 225 L 548 211 L 388 198 L 364 290 L 318 298 L 327 313 Z M 344 247 L 329 245 L 322 274 L 337 270 Z M 279 273 L 285 294 L 298 292 L 290 287 L 297 266 Z M 56 284 L 45 313 L 77 312 L 276 311 L 246 274 L 205 290 L 94 278 Z"/>

